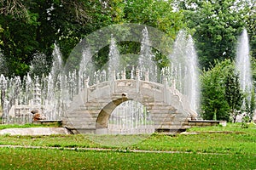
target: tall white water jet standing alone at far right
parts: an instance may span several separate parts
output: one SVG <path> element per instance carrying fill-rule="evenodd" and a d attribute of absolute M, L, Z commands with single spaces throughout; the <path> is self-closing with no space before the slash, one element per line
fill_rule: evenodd
<path fill-rule="evenodd" d="M 246 29 L 242 31 L 238 39 L 236 48 L 236 72 L 239 74 L 242 92 L 247 94 L 251 93 L 253 81 L 249 56 L 249 39 Z"/>

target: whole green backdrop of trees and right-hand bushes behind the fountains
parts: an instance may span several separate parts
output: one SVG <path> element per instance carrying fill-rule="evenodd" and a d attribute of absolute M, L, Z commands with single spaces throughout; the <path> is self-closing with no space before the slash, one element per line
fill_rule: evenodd
<path fill-rule="evenodd" d="M 241 94 L 234 73 L 236 43 L 246 28 L 250 37 L 253 81 L 256 79 L 256 5 L 253 0 L 3 0 L 0 2 L 0 73 L 23 77 L 32 60 L 46 57 L 41 71 L 51 67 L 55 44 L 66 62 L 75 45 L 91 32 L 104 26 L 138 23 L 153 26 L 173 39 L 185 30 L 195 41 L 201 69 L 201 116 L 204 119 L 234 121 L 241 110 Z M 139 53 L 139 44 L 120 42 L 120 54 Z M 96 66 L 108 60 L 108 47 L 94 57 Z M 160 67 L 168 64 L 157 54 Z M 41 72 L 41 73 L 42 73 Z M 232 87 L 232 88 L 229 88 Z M 233 90 L 233 91 L 232 91 Z M 231 102 L 230 101 L 234 101 Z M 252 119 L 255 101 L 247 101 Z"/>

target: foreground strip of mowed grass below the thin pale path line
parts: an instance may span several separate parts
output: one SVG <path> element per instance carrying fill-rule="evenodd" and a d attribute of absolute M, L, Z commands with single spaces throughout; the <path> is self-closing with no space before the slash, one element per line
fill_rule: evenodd
<path fill-rule="evenodd" d="M 131 153 L 13 149 L 0 150 L 1 169 L 253 169 L 249 155 Z"/>

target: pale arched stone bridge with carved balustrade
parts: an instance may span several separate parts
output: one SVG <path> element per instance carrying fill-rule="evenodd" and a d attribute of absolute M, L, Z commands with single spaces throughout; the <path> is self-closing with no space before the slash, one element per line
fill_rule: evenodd
<path fill-rule="evenodd" d="M 188 127 L 197 116 L 189 109 L 183 94 L 157 82 L 136 79 L 112 79 L 85 88 L 70 103 L 62 123 L 73 133 L 107 133 L 108 119 L 113 110 L 126 100 L 143 104 L 154 122 L 154 131 L 172 131 Z"/>

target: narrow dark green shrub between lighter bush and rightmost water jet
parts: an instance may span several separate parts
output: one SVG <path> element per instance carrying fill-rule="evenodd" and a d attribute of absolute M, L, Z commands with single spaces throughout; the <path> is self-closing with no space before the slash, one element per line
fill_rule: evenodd
<path fill-rule="evenodd" d="M 225 99 L 230 106 L 230 116 L 236 122 L 236 116 L 241 113 L 243 94 L 241 92 L 239 76 L 230 70 L 225 80 Z"/>

